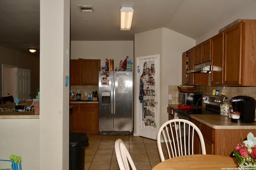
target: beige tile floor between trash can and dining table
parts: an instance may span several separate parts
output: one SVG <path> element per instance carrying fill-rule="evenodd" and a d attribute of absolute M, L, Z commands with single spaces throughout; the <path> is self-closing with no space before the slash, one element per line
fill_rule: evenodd
<path fill-rule="evenodd" d="M 89 146 L 85 150 L 85 170 L 119 170 L 114 143 L 122 139 L 137 170 L 151 170 L 160 163 L 156 140 L 133 135 L 87 134 Z"/>

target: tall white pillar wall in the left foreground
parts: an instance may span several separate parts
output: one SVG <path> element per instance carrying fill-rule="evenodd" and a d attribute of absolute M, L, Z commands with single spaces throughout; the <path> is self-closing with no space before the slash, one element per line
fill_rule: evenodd
<path fill-rule="evenodd" d="M 40 170 L 69 168 L 69 38 L 70 0 L 40 0 Z"/>

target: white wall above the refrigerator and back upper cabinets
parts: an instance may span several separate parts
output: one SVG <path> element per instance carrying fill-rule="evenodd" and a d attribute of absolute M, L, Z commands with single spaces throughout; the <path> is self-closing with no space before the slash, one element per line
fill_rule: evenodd
<path fill-rule="evenodd" d="M 100 59 L 105 66 L 106 59 L 114 59 L 114 68 L 126 56 L 134 63 L 133 41 L 71 41 L 70 59 Z"/>

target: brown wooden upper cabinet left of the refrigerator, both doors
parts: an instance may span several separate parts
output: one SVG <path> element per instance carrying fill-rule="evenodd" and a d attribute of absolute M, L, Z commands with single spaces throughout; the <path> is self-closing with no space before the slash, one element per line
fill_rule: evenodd
<path fill-rule="evenodd" d="M 70 60 L 70 85 L 98 85 L 100 60 Z"/>

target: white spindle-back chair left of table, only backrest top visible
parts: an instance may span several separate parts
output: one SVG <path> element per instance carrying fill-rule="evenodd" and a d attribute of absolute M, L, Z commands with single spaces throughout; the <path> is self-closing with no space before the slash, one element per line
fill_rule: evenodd
<path fill-rule="evenodd" d="M 130 166 L 132 170 L 136 170 L 132 157 L 121 139 L 116 140 L 115 151 L 120 170 L 130 170 Z"/>

